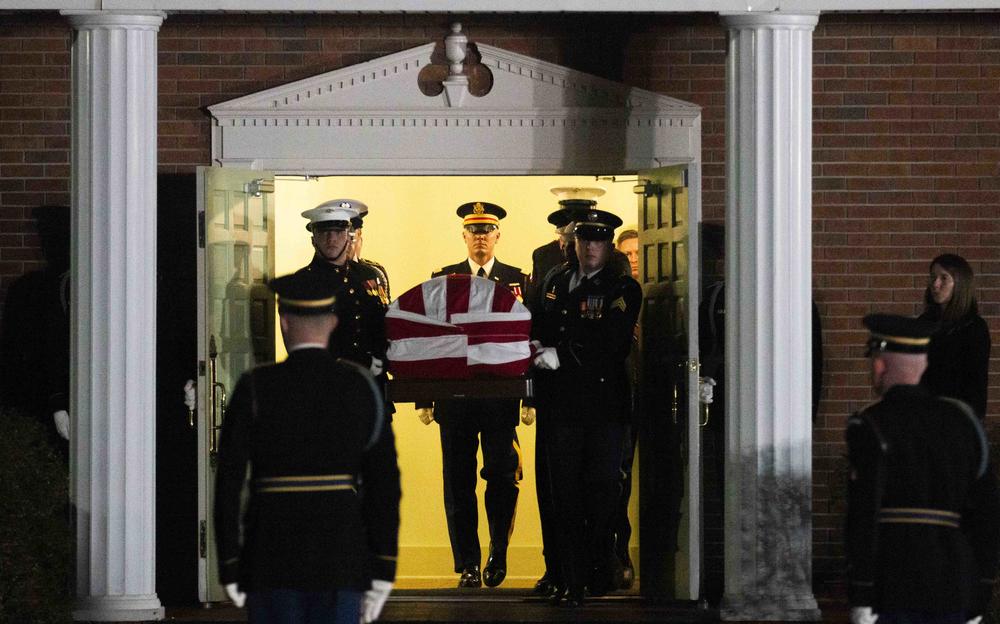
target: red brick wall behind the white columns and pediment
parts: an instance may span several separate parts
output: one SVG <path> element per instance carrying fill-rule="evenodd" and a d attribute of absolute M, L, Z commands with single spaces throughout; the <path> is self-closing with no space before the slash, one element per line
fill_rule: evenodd
<path fill-rule="evenodd" d="M 170 16 L 159 39 L 160 170 L 208 163 L 205 106 L 439 40 L 452 19 Z M 725 32 L 716 17 L 462 21 L 473 41 L 701 105 L 705 215 L 723 220 Z M 39 266 L 31 207 L 68 202 L 70 42 L 58 16 L 0 18 L 0 301 Z M 873 398 L 860 317 L 917 312 L 927 262 L 955 251 L 972 262 L 1000 338 L 1000 13 L 824 15 L 814 51 L 813 267 L 826 354 L 814 552 L 825 582 L 842 567 L 844 421 Z M 991 368 L 995 428 L 1000 358 Z"/>

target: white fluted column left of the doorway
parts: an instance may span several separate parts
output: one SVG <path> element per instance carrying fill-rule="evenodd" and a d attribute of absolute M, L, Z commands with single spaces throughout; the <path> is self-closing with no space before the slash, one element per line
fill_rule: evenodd
<path fill-rule="evenodd" d="M 74 620 L 163 618 L 156 596 L 159 12 L 66 11 L 73 43 Z"/>

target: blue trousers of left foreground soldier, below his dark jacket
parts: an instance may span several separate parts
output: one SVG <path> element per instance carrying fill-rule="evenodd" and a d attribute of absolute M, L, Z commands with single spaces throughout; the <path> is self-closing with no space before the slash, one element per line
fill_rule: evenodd
<path fill-rule="evenodd" d="M 247 594 L 250 624 L 358 624 L 362 592 L 267 589 Z"/>

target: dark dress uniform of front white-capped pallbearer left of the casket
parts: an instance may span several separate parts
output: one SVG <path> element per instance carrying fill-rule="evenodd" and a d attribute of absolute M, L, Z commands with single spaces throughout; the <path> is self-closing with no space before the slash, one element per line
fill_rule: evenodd
<path fill-rule="evenodd" d="M 388 282 L 374 267 L 348 260 L 343 265 L 314 256 L 299 272 L 314 273 L 340 287 L 337 293 L 337 328 L 330 335 L 330 352 L 364 368 L 376 357 L 387 366 L 385 352 L 389 343 L 385 337 L 385 313 L 389 309 Z M 395 412 L 387 395 L 388 377 L 383 371 L 375 380 L 382 389 L 386 410 Z"/>

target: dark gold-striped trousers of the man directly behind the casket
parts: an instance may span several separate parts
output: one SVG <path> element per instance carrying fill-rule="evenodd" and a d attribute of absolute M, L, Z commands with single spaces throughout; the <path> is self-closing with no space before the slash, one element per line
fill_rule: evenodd
<path fill-rule="evenodd" d="M 461 421 L 441 424 L 444 510 L 456 572 L 481 563 L 476 500 L 476 451 L 480 440 L 483 445 L 480 476 L 486 480 L 486 519 L 491 543 L 506 549 L 514 529 L 517 483 L 521 480 L 517 432 L 513 427 L 480 429 Z"/>

